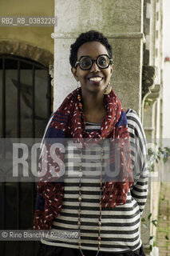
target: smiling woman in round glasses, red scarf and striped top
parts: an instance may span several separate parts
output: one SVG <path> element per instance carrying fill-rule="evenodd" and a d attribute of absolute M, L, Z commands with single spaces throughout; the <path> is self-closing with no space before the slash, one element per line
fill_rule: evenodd
<path fill-rule="evenodd" d="M 55 236 L 42 239 L 38 255 L 144 256 L 140 239 L 148 191 L 144 130 L 134 110 L 125 113 L 121 108 L 110 86 L 112 47 L 103 34 L 93 30 L 81 34 L 71 46 L 69 60 L 81 87 L 65 98 L 45 130 L 41 170 L 48 165 L 38 182 L 34 229 L 51 229 Z M 56 150 L 65 160 L 64 177 L 49 154 L 56 138 L 69 138 L 65 154 Z M 70 238 L 70 233 L 77 237 Z"/>

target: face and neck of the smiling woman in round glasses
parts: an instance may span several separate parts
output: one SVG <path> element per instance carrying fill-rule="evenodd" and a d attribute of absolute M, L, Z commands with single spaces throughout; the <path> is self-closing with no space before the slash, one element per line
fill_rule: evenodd
<path fill-rule="evenodd" d="M 102 122 L 106 114 L 104 93 L 113 74 L 112 58 L 108 55 L 101 42 L 85 42 L 77 50 L 79 61 L 72 66 L 74 78 L 81 82 L 83 113 L 89 122 Z"/>

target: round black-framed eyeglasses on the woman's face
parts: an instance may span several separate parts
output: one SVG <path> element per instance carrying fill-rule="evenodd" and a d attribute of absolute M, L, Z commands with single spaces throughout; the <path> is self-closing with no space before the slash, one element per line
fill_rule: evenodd
<path fill-rule="evenodd" d="M 107 54 L 101 54 L 97 59 L 90 58 L 89 56 L 81 56 L 79 61 L 76 62 L 80 66 L 81 70 L 91 70 L 93 63 L 96 62 L 97 66 L 102 69 L 107 69 L 110 64 L 113 64 L 113 58 L 109 58 Z"/>

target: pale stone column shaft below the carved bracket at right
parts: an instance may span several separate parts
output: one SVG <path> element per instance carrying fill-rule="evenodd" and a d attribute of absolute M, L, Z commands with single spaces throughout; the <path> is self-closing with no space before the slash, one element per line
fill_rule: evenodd
<path fill-rule="evenodd" d="M 144 112 L 144 131 L 148 138 L 148 148 L 153 149 L 155 142 L 159 143 L 159 137 L 157 138 L 156 134 L 160 134 L 160 85 L 155 85 L 150 92 L 151 105 L 147 106 Z M 156 226 L 153 226 L 151 221 L 158 218 L 161 171 L 162 164 L 159 162 L 159 166 L 154 166 L 154 173 L 150 172 L 148 178 L 148 199 L 143 214 L 146 221 L 142 222 L 141 226 L 142 240 L 147 255 L 150 254 L 150 244 L 156 240 Z M 148 219 L 150 214 L 152 216 Z"/>

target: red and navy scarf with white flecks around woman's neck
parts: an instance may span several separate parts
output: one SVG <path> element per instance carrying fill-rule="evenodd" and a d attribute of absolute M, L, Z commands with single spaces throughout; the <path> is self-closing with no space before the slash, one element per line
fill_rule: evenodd
<path fill-rule="evenodd" d="M 102 207 L 113 208 L 120 204 L 125 204 L 128 189 L 132 186 L 132 165 L 130 157 L 128 124 L 125 112 L 121 109 L 121 102 L 114 94 L 113 90 L 110 94 L 105 95 L 106 116 L 101 123 L 101 130 L 87 132 L 85 130 L 85 117 L 81 113 L 78 95 L 81 95 L 81 89 L 74 90 L 62 102 L 58 110 L 53 113 L 49 125 L 45 132 L 45 152 L 42 150 L 40 158 L 41 170 L 43 168 L 43 158 L 46 152 L 50 151 L 50 139 L 73 138 L 76 142 L 80 142 L 85 138 L 85 142 L 96 139 L 99 143 L 104 138 L 110 138 L 113 142 L 117 139 L 120 147 L 121 167 L 118 179 L 104 182 L 103 197 L 101 199 Z M 126 143 L 125 143 L 126 142 Z M 126 148 L 125 148 L 126 147 Z M 114 150 L 113 150 L 114 151 Z M 126 151 L 126 155 L 125 155 Z M 127 154 L 128 152 L 128 154 Z M 57 149 L 55 154 L 61 160 L 64 154 L 61 149 Z M 111 153 L 112 154 L 112 150 Z M 114 152 L 113 152 L 114 154 Z M 128 157 L 127 157 L 128 156 Z M 52 161 L 52 156 L 47 154 L 47 162 Z M 109 165 L 114 166 L 114 160 L 111 158 Z M 61 212 L 62 202 L 64 198 L 64 182 L 56 182 L 49 173 L 50 166 L 47 166 L 45 177 L 40 178 L 38 182 L 38 195 L 36 209 L 34 215 L 34 229 L 49 230 L 52 226 L 54 218 Z M 60 167 L 55 162 L 55 173 L 59 175 Z M 60 178 L 60 177 L 58 177 Z"/>

